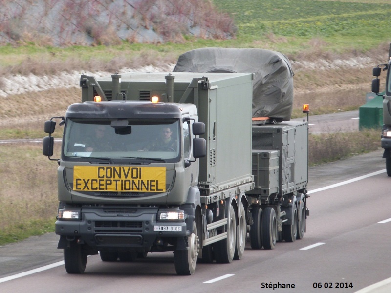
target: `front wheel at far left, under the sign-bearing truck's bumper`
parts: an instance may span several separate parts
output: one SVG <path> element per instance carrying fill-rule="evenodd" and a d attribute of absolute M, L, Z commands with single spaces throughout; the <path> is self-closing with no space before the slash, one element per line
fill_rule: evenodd
<path fill-rule="evenodd" d="M 67 273 L 83 273 L 86 270 L 87 253 L 82 251 L 76 241 L 71 241 L 69 247 L 64 249 L 64 262 Z"/>

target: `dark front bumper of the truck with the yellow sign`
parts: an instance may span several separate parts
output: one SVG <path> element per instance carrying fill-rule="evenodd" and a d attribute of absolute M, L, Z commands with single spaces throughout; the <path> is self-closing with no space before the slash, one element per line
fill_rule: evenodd
<path fill-rule="evenodd" d="M 157 238 L 177 238 L 191 234 L 193 217 L 185 221 L 157 221 L 157 208 L 83 208 L 82 219 L 57 220 L 56 234 L 77 239 L 92 248 L 151 248 Z M 154 231 L 154 226 L 176 226 L 176 231 Z M 191 229 L 190 229 L 191 227 Z M 180 231 L 177 231 L 180 230 Z"/>

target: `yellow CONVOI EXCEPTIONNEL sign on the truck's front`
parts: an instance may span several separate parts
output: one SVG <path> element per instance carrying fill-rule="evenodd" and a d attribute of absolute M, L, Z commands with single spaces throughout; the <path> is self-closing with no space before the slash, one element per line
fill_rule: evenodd
<path fill-rule="evenodd" d="M 166 167 L 75 166 L 73 190 L 164 192 Z"/>

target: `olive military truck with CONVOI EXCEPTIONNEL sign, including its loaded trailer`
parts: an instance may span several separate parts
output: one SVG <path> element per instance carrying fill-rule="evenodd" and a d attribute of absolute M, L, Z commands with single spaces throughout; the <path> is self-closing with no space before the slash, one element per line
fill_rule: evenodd
<path fill-rule="evenodd" d="M 43 154 L 59 164 L 55 231 L 66 272 L 83 273 L 98 253 L 134 261 L 173 251 L 176 273 L 192 275 L 197 260 L 242 258 L 248 239 L 273 249 L 304 237 L 308 124 L 284 121 L 290 63 L 273 51 L 227 50 L 223 59 L 215 48 L 196 54 L 226 65 L 247 56 L 268 74 L 228 65 L 178 72 L 185 53 L 170 73 L 82 75 L 82 102 L 45 122 Z M 53 159 L 58 119 L 64 134 Z M 167 135 L 170 143 L 156 143 Z"/>

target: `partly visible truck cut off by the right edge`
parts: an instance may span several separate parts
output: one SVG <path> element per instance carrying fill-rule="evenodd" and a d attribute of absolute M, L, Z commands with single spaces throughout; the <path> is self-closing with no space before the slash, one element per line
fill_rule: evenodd
<path fill-rule="evenodd" d="M 383 130 L 381 134 L 381 145 L 384 148 L 383 158 L 386 159 L 387 175 L 391 177 L 391 43 L 389 49 L 388 63 L 379 64 L 373 68 L 372 92 L 376 95 L 383 96 Z M 386 88 L 381 94 L 379 76 L 382 70 L 387 71 Z"/>

